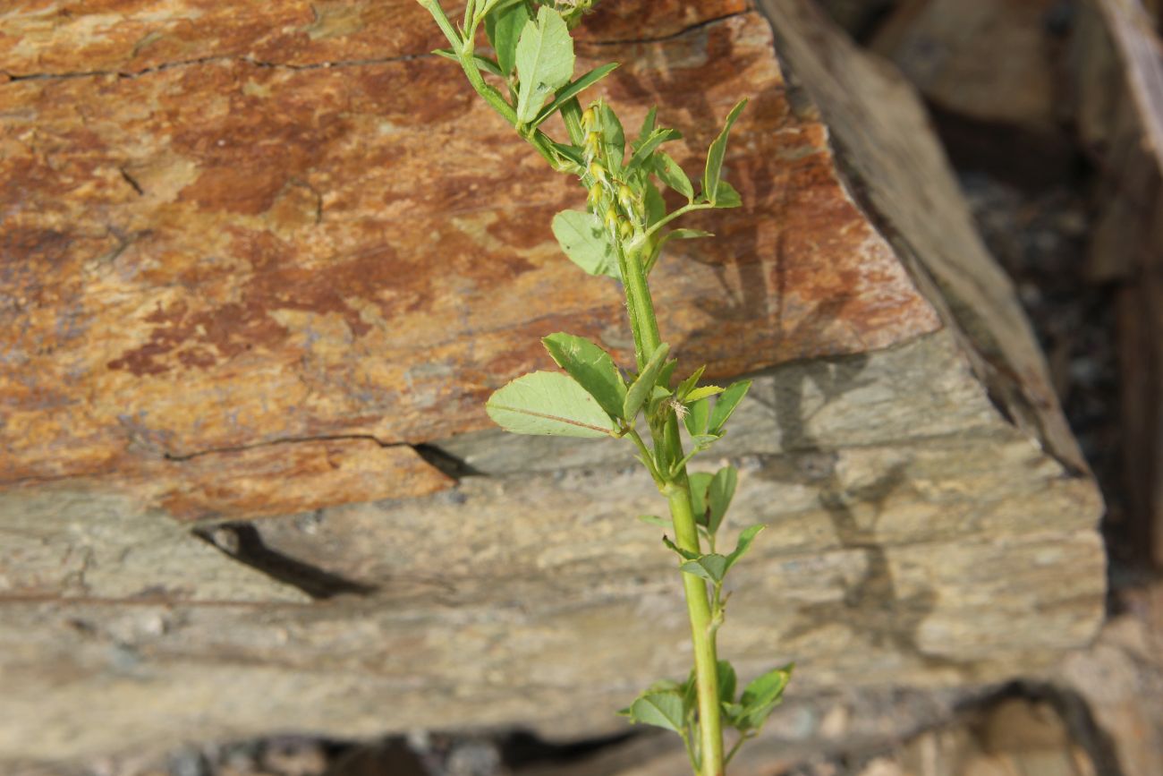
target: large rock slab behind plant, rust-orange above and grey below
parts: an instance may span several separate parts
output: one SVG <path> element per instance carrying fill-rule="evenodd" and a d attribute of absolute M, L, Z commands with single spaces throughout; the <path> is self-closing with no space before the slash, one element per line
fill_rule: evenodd
<path fill-rule="evenodd" d="M 752 100 L 748 206 L 656 272 L 685 366 L 759 375 L 725 652 L 806 695 L 1084 643 L 1101 503 L 915 97 L 799 0 L 632 5 L 579 66 L 680 161 Z M 487 428 L 541 335 L 629 336 L 549 232 L 582 192 L 434 44 L 405 0 L 0 12 L 0 755 L 594 734 L 684 670 L 629 451 Z"/>

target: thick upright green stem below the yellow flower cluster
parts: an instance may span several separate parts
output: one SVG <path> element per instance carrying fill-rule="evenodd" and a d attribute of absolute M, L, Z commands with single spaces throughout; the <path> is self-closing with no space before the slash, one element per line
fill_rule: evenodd
<path fill-rule="evenodd" d="M 627 305 L 634 311 L 632 321 L 641 330 L 642 349 L 654 353 L 659 344 L 658 319 L 654 311 L 654 299 L 642 266 L 641 248 L 627 248 L 623 254 L 623 282 Z M 638 362 L 638 369 L 643 363 Z M 655 447 L 663 451 L 665 461 L 683 461 L 683 443 L 678 435 L 678 418 L 671 413 L 663 428 L 651 427 Z M 659 464 L 666 465 L 666 464 Z M 671 474 L 668 471 L 668 474 Z M 701 553 L 699 529 L 691 508 L 691 487 L 686 477 L 686 465 L 677 467 L 663 489 L 670 505 L 670 517 L 675 524 L 676 543 L 685 550 Z M 691 620 L 691 641 L 694 646 L 694 677 L 699 699 L 699 752 L 700 776 L 723 775 L 723 735 L 719 712 L 719 657 L 715 654 L 715 633 L 712 626 L 711 603 L 707 585 L 693 574 L 682 574 L 686 593 L 686 611 Z"/>

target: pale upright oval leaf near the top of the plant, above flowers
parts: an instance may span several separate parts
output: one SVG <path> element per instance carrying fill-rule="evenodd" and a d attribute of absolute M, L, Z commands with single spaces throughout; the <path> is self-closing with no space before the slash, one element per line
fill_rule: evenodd
<path fill-rule="evenodd" d="M 521 79 L 516 93 L 516 120 L 533 121 L 545 98 L 569 83 L 573 76 L 573 38 L 552 8 L 541 6 L 536 21 L 529 20 L 516 44 L 516 73 Z"/>

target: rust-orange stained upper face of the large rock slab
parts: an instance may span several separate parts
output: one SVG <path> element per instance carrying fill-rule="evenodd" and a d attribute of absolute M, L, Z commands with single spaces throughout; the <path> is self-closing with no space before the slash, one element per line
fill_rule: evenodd
<path fill-rule="evenodd" d="M 545 365 L 545 334 L 569 329 L 625 354 L 618 290 L 579 283 L 549 229 L 582 192 L 450 65 L 359 64 L 365 37 L 354 31 L 317 40 L 351 47 L 326 55 L 348 65 L 293 64 L 288 42 L 292 64 L 259 64 L 240 52 L 273 56 L 283 43 L 259 31 L 290 22 L 224 8 L 197 26 L 208 60 L 23 79 L 0 93 L 0 483 L 144 468 L 181 489 L 186 468 L 148 464 L 281 440 L 440 439 L 486 427 L 483 400 Z M 144 5 L 124 13 L 149 17 Z M 133 24 L 95 14 L 70 51 L 33 33 L 12 43 L 12 71 L 90 71 L 127 56 Z M 19 31 L 34 16 L 0 20 Z M 60 23 L 63 34 L 79 22 Z M 599 29 L 616 38 L 619 23 Z M 384 45 L 413 50 L 394 40 Z M 630 121 L 662 105 L 686 134 L 687 162 L 752 97 L 728 162 L 748 206 L 702 219 L 720 239 L 657 272 L 672 347 L 715 376 L 939 326 L 844 192 L 819 116 L 789 101 L 770 48 L 750 12 L 658 42 L 583 47 L 625 63 L 612 99 Z M 691 83 L 708 87 L 693 94 Z M 256 504 L 220 506 L 245 515 Z"/>

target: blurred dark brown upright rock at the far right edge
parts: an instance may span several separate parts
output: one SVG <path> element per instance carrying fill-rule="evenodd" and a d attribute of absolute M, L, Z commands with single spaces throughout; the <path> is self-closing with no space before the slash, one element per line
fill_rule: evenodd
<path fill-rule="evenodd" d="M 1098 163 L 1090 276 L 1118 284 L 1125 486 L 1134 540 L 1163 568 L 1163 55 L 1141 8 L 1083 6 L 1071 83 Z"/>

